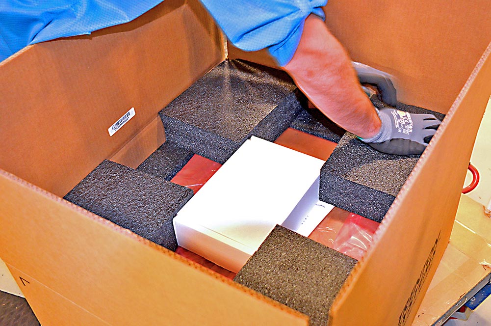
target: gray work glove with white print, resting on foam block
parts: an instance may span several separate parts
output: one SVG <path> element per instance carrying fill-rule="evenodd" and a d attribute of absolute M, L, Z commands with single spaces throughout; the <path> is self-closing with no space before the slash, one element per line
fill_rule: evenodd
<path fill-rule="evenodd" d="M 377 110 L 377 113 L 382 121 L 380 132 L 372 138 L 360 139 L 387 154 L 421 154 L 441 123 L 432 114 L 414 114 L 389 108 Z"/>

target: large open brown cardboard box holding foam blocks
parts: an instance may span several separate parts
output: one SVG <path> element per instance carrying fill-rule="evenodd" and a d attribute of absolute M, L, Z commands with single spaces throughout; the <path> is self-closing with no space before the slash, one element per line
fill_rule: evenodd
<path fill-rule="evenodd" d="M 327 4 L 327 25 L 354 60 L 396 76 L 401 101 L 447 114 L 339 292 L 331 325 L 414 319 L 491 93 L 490 7 Z M 225 53 L 198 2 L 166 0 L 129 24 L 30 46 L 0 64 L 0 256 L 42 325 L 307 324 L 60 198 L 103 159 L 143 161 L 164 142 L 157 112 Z M 264 52 L 228 48 L 228 57 L 265 62 Z M 110 137 L 132 107 L 135 117 Z"/>

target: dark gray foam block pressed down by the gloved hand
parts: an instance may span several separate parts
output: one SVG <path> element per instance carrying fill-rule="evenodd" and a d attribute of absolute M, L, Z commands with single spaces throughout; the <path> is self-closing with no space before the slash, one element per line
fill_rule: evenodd
<path fill-rule="evenodd" d="M 375 96 L 376 107 L 383 104 Z M 423 108 L 398 104 L 410 113 L 432 113 Z M 380 222 L 406 182 L 419 155 L 398 156 L 381 153 L 346 133 L 321 169 L 319 199 L 336 207 Z"/>

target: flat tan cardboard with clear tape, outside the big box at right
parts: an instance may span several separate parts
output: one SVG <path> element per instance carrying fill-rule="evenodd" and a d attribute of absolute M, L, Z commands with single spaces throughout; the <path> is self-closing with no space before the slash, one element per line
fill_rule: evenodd
<path fill-rule="evenodd" d="M 478 229 L 468 227 L 490 227 L 491 220 L 484 215 L 484 207 L 462 195 L 454 225 L 450 242 L 412 324 L 414 326 L 443 322 L 443 313 L 448 311 L 450 314 L 450 309 L 466 302 L 472 296 L 468 295 L 469 292 L 480 290 L 481 282 L 489 283 L 491 254 L 486 237 L 490 234 L 480 236 Z"/>

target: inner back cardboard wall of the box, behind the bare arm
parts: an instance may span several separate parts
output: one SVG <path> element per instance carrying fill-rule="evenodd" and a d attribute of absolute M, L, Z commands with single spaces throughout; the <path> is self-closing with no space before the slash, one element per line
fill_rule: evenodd
<path fill-rule="evenodd" d="M 491 3 L 329 0 L 329 30 L 355 61 L 394 76 L 401 102 L 446 113 L 491 41 Z M 267 51 L 228 57 L 275 66 Z"/>

